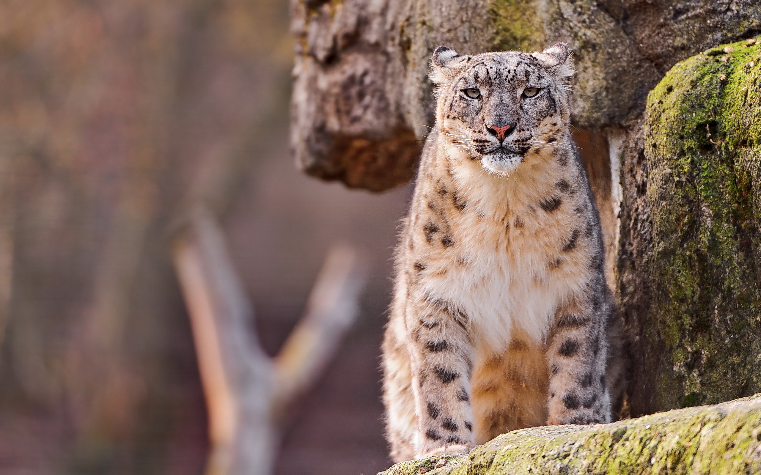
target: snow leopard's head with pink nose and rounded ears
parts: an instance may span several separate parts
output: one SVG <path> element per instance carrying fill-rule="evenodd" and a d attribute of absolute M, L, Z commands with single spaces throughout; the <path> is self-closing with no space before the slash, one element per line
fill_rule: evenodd
<path fill-rule="evenodd" d="M 439 46 L 431 58 L 441 140 L 488 171 L 514 171 L 527 154 L 555 148 L 567 133 L 572 54 L 564 43 L 542 53 L 460 56 Z"/>

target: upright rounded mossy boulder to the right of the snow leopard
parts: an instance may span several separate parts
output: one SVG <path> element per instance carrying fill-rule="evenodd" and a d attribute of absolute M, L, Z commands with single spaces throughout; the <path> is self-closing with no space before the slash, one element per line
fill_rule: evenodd
<path fill-rule="evenodd" d="M 642 343 L 656 410 L 761 391 L 761 46 L 674 65 L 648 96 Z"/>

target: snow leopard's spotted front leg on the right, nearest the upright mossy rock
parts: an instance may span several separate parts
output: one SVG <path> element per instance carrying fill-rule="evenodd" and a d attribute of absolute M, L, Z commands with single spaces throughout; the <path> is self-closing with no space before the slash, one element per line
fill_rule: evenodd
<path fill-rule="evenodd" d="M 572 301 L 558 312 L 546 353 L 550 426 L 610 422 L 606 381 L 610 297 L 600 282 Z"/>

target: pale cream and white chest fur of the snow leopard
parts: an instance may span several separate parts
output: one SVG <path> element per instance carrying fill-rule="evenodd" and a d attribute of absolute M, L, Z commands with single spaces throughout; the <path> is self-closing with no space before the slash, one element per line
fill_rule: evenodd
<path fill-rule="evenodd" d="M 552 266 L 578 223 L 570 203 L 551 214 L 540 209 L 560 171 L 540 155 L 531 159 L 506 177 L 457 160 L 454 180 L 467 202 L 451 217 L 457 250 L 421 282 L 465 312 L 482 354 L 503 352 L 516 336 L 543 344 L 562 301 L 586 281 L 573 263 Z"/>

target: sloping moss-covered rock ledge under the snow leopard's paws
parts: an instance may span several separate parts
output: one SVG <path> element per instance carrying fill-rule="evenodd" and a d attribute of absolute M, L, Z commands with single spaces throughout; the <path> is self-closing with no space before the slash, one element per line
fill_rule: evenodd
<path fill-rule="evenodd" d="M 378 475 L 761 473 L 761 399 L 594 426 L 508 432 L 470 454 L 396 464 Z"/>

